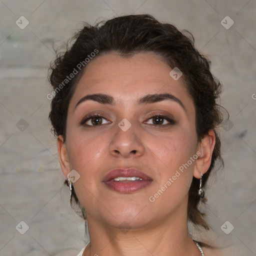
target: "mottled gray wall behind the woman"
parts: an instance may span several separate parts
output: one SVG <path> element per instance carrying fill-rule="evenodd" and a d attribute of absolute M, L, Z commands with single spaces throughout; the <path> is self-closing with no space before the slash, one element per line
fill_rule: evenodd
<path fill-rule="evenodd" d="M 237 255 L 256 255 L 255 0 L 0 0 L 0 255 L 54 255 L 84 246 L 84 223 L 69 206 L 47 119 L 47 68 L 52 44 L 61 45 L 81 21 L 131 13 L 189 30 L 212 61 L 224 85 L 220 103 L 230 114 L 220 128 L 225 167 L 205 191 L 212 230 L 191 233 L 213 245 L 231 242 Z M 15 24 L 22 15 L 29 21 L 24 29 Z M 228 29 L 225 16 L 234 21 Z M 29 227 L 24 234 L 20 221 Z M 221 229 L 225 221 L 234 226 L 229 234 Z"/>

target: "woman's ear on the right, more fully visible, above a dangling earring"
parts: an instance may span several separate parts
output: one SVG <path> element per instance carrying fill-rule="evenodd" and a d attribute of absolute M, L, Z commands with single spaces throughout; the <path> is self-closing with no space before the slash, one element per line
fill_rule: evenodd
<path fill-rule="evenodd" d="M 193 176 L 196 178 L 201 177 L 201 173 L 204 174 L 211 163 L 211 156 L 215 145 L 215 133 L 211 129 L 198 143 L 197 151 L 200 155 L 195 160 Z"/>

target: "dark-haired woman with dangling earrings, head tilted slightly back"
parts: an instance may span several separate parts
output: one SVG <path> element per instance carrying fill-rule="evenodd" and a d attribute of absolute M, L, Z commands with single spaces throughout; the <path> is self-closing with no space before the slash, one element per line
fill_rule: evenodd
<path fill-rule="evenodd" d="M 187 228 L 209 229 L 198 205 L 222 163 L 209 64 L 193 38 L 147 14 L 85 25 L 57 55 L 49 119 L 87 221 L 78 255 L 222 255 Z"/>

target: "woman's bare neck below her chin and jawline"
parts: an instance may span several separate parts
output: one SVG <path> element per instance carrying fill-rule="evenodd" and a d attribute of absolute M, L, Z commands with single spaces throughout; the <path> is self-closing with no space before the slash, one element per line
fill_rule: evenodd
<path fill-rule="evenodd" d="M 186 215 L 147 223 L 146 227 L 118 229 L 87 216 L 90 244 L 83 255 L 100 256 L 199 256 L 188 234 Z"/>

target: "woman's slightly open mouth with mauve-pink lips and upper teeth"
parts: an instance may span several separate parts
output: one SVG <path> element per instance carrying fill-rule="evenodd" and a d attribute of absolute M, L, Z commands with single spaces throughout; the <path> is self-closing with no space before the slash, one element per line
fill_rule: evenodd
<path fill-rule="evenodd" d="M 103 182 L 111 190 L 131 193 L 148 186 L 152 178 L 135 168 L 118 168 L 109 171 Z"/>

